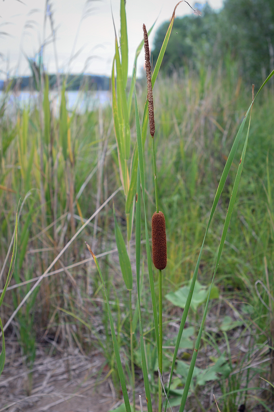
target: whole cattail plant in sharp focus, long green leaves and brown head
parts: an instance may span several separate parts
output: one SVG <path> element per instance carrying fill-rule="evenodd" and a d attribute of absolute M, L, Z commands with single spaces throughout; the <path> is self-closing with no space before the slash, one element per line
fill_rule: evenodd
<path fill-rule="evenodd" d="M 184 0 L 183 0 L 184 1 Z M 147 363 L 146 363 L 146 348 L 145 348 L 145 339 L 144 339 L 144 333 L 143 333 L 143 318 L 142 318 L 142 310 L 141 310 L 141 281 L 140 281 L 140 267 L 141 267 L 141 196 L 142 196 L 142 204 L 143 204 L 143 210 L 144 210 L 144 226 L 145 226 L 145 235 L 146 235 L 146 257 L 147 257 L 147 268 L 148 268 L 148 276 L 149 276 L 149 286 L 150 286 L 150 293 L 151 293 L 151 304 L 152 304 L 152 311 L 153 311 L 153 321 L 154 321 L 154 330 L 155 330 L 155 346 L 157 349 L 157 354 L 158 354 L 158 412 L 161 412 L 163 410 L 163 386 L 167 387 L 167 390 L 164 390 L 164 393 L 167 397 L 167 402 L 165 403 L 165 410 L 168 405 L 168 396 L 170 393 L 170 387 L 171 387 L 171 381 L 172 381 L 172 375 L 174 372 L 175 368 L 175 363 L 176 363 L 176 358 L 177 358 L 177 353 L 179 349 L 179 345 L 181 342 L 182 338 L 182 333 L 184 330 L 184 326 L 187 320 L 187 315 L 189 312 L 189 307 L 191 303 L 191 299 L 193 296 L 193 291 L 194 291 L 194 286 L 196 283 L 197 275 L 198 275 L 198 268 L 200 265 L 200 260 L 201 260 L 201 254 L 203 251 L 203 246 L 204 242 L 208 233 L 208 229 L 210 226 L 210 223 L 213 218 L 213 214 L 217 208 L 218 201 L 220 199 L 222 190 L 224 188 L 229 169 L 232 165 L 232 162 L 234 160 L 235 154 L 236 154 L 236 149 L 239 145 L 239 142 L 242 137 L 242 132 L 243 132 L 243 127 L 245 125 L 246 119 L 248 117 L 248 113 L 250 113 L 251 110 L 251 105 L 246 113 L 246 116 L 243 119 L 243 122 L 240 126 L 239 132 L 236 135 L 236 138 L 234 140 L 233 146 L 231 148 L 231 151 L 229 153 L 229 156 L 227 158 L 227 163 L 224 167 L 224 171 L 222 173 L 222 176 L 220 178 L 220 183 L 217 188 L 217 192 L 215 195 L 215 199 L 213 201 L 213 206 L 210 211 L 210 216 L 208 219 L 208 224 L 206 226 L 206 232 L 205 236 L 203 239 L 203 243 L 201 245 L 201 250 L 198 256 L 198 260 L 196 263 L 196 267 L 194 269 L 194 273 L 191 279 L 191 286 L 189 289 L 189 293 L 187 296 L 187 300 L 185 303 L 183 315 L 182 315 L 182 320 L 180 323 L 176 343 L 175 343 L 175 350 L 172 358 L 172 364 L 170 368 L 170 377 L 168 379 L 168 382 L 166 382 L 166 385 L 163 383 L 163 330 L 162 330 L 162 270 L 165 269 L 167 265 L 167 246 L 166 246 L 166 234 L 165 234 L 165 217 L 163 212 L 159 211 L 159 206 L 158 206 L 158 188 L 157 188 L 157 176 L 156 176 L 156 157 L 155 157 L 155 146 L 154 146 L 154 135 L 155 135 L 155 123 L 154 123 L 154 105 L 153 105 L 153 95 L 152 95 L 152 89 L 154 87 L 156 77 L 158 75 L 161 62 L 163 60 L 163 56 L 165 53 L 165 49 L 168 44 L 168 40 L 170 37 L 170 33 L 172 30 L 172 25 L 175 19 L 175 10 L 177 6 L 181 3 L 180 1 L 172 14 L 172 19 L 170 21 L 170 25 L 168 27 L 168 31 L 166 33 L 165 39 L 163 41 L 163 45 L 158 57 L 158 60 L 156 62 L 155 68 L 154 68 L 154 73 L 151 75 L 151 65 L 150 65 L 150 56 L 149 56 L 149 43 L 148 43 L 148 33 L 146 31 L 146 26 L 143 25 L 143 30 L 144 30 L 144 50 L 145 50 L 145 62 L 146 62 L 146 77 L 147 77 L 147 86 L 148 86 L 148 91 L 147 91 L 147 101 L 145 103 L 144 107 L 144 116 L 142 123 L 140 123 L 140 117 L 139 117 L 139 108 L 138 108 L 138 102 L 137 102 L 137 94 L 136 94 L 136 89 L 134 85 L 134 97 L 135 97 L 135 122 L 136 122 L 136 137 L 137 137 L 137 167 L 135 169 L 135 166 L 132 166 L 132 170 L 137 170 L 137 176 L 136 176 L 136 183 L 137 183 L 137 196 L 136 196 L 136 218 L 135 218 L 135 242 L 136 242 L 136 280 L 137 280 L 137 309 L 139 311 L 139 344 L 140 344 L 140 352 L 141 352 L 141 360 L 142 360 L 142 372 L 143 372 L 143 378 L 144 378 L 144 389 L 145 389 L 145 395 L 146 395 L 146 403 L 147 403 L 147 410 L 148 412 L 152 412 L 152 400 L 151 400 L 151 382 L 150 381 L 150 374 L 148 371 Z M 187 3 L 188 4 L 188 3 Z M 125 4 L 124 1 L 121 0 L 121 33 L 123 33 L 123 38 L 126 37 L 126 21 L 125 21 Z M 121 54 L 122 54 L 122 61 L 127 61 L 125 59 L 126 54 L 127 54 L 127 47 L 125 47 L 126 42 L 122 42 L 122 35 L 121 35 Z M 123 51 L 122 51 L 122 46 L 123 46 Z M 139 49 L 138 49 L 139 50 Z M 124 54 L 123 54 L 124 52 Z M 124 58 L 123 58 L 124 56 Z M 118 157 L 119 157 L 119 168 L 120 168 L 120 175 L 121 175 L 121 181 L 122 185 L 124 188 L 124 192 L 126 194 L 126 205 L 128 206 L 128 211 L 132 210 L 132 201 L 133 201 L 133 191 L 136 189 L 135 185 L 135 178 L 130 178 L 130 183 L 127 182 L 128 179 L 128 171 L 124 168 L 124 165 L 126 164 L 125 159 L 129 159 L 129 156 L 123 155 L 126 154 L 127 152 L 127 147 L 123 148 L 123 144 L 125 143 L 125 139 L 123 136 L 123 131 L 126 129 L 130 129 L 129 124 L 125 124 L 128 122 L 129 116 L 128 112 L 126 110 L 127 106 L 125 104 L 126 99 L 124 96 L 125 93 L 125 87 L 122 87 L 122 84 L 126 84 L 126 73 L 127 70 L 121 70 L 121 64 L 120 64 L 120 54 L 119 54 L 119 48 L 118 48 L 118 43 L 116 39 L 116 69 L 117 69 L 117 77 L 115 79 L 114 77 L 114 69 L 113 69 L 113 75 L 112 75 L 112 84 L 113 84 L 113 118 L 114 118 L 114 127 L 116 129 L 116 140 L 117 140 L 117 147 L 118 147 Z M 134 72 L 135 73 L 135 72 Z M 273 72 L 274 73 L 274 72 Z M 272 73 L 272 74 L 273 74 Z M 271 77 L 271 76 L 270 76 Z M 270 78 L 269 77 L 269 78 Z M 269 80 L 269 78 L 266 80 L 266 82 Z M 116 80 L 116 82 L 115 82 Z M 265 82 L 265 83 L 266 83 Z M 264 83 L 264 84 L 265 84 Z M 115 93 L 115 84 L 118 84 L 117 87 L 117 96 Z M 131 90 L 131 89 L 130 89 Z M 121 98 L 119 97 L 119 94 L 121 95 Z M 120 111 L 119 105 L 117 105 L 118 102 L 118 97 L 120 98 Z M 131 96 L 130 96 L 131 97 Z M 128 100 L 128 107 L 131 107 L 130 105 L 130 100 Z M 122 114 L 125 112 L 127 116 L 123 116 Z M 120 117 L 119 117 L 120 116 Z M 153 155 L 153 166 L 154 166 L 154 185 L 155 185 L 155 199 L 156 199 L 156 212 L 152 216 L 151 220 L 151 228 L 152 228 L 152 260 L 151 260 L 151 249 L 150 249 L 150 243 L 149 243 L 149 230 L 148 230 L 148 225 L 147 225 L 147 219 L 146 219 L 146 204 L 145 204 L 145 195 L 146 195 L 146 184 L 145 184 L 145 173 L 144 173 L 144 140 L 146 138 L 146 132 L 147 132 L 147 124 L 149 120 L 149 130 L 150 130 L 150 135 L 151 135 L 151 144 L 152 144 L 152 155 Z M 120 123 L 119 123 L 120 122 Z M 120 126 L 120 124 L 123 126 Z M 212 277 L 212 282 L 211 286 L 209 288 L 209 293 L 208 293 L 208 299 L 206 301 L 206 307 L 203 313 L 203 318 L 201 320 L 201 326 L 198 332 L 198 336 L 196 339 L 195 343 L 195 348 L 194 352 L 191 358 L 191 363 L 189 365 L 189 370 L 186 378 L 186 382 L 184 385 L 184 391 L 182 394 L 181 398 L 181 403 L 180 403 L 180 412 L 184 411 L 185 405 L 186 405 L 186 400 L 187 400 L 187 395 L 189 392 L 190 384 L 191 384 L 191 379 L 192 375 L 194 372 L 194 366 L 198 354 L 198 349 L 199 345 L 201 342 L 201 335 L 203 331 L 203 325 L 205 323 L 206 319 L 206 314 L 208 310 L 208 304 L 209 304 L 209 298 L 210 298 L 210 292 L 211 288 L 213 286 L 213 281 L 215 278 L 215 274 L 217 271 L 217 267 L 219 265 L 222 249 L 224 246 L 224 241 L 227 236 L 227 231 L 229 227 L 229 222 L 232 214 L 232 210 L 234 208 L 235 204 L 235 199 L 236 199 L 236 193 L 239 187 L 239 181 L 240 181 L 240 176 L 241 176 L 241 171 L 243 168 L 243 162 L 244 162 L 244 157 L 246 153 L 246 146 L 248 142 L 248 133 L 249 133 L 249 128 L 248 132 L 246 135 L 246 138 L 244 140 L 244 147 L 243 147 L 243 152 L 242 152 L 242 157 L 241 157 L 241 162 L 239 164 L 237 176 L 235 179 L 235 183 L 233 186 L 232 194 L 231 194 L 231 200 L 229 203 L 227 215 L 225 218 L 224 222 L 224 228 L 221 236 L 221 241 L 220 241 L 220 246 L 218 248 L 218 253 L 217 253 L 217 259 L 215 263 L 215 270 L 214 274 Z M 124 162 L 121 162 L 121 159 L 123 158 Z M 135 154 L 132 157 L 132 165 L 135 165 Z M 132 177 L 134 175 L 132 174 Z M 142 188 L 142 190 L 141 190 Z M 136 192 L 135 192 L 136 193 Z M 132 211 L 133 215 L 133 211 Z M 130 222 L 133 220 L 130 219 Z M 132 288 L 131 284 L 131 279 L 132 279 L 132 274 L 131 271 L 128 267 L 130 264 L 128 253 L 126 250 L 125 242 L 123 240 L 122 234 L 119 232 L 118 233 L 118 228 L 117 228 L 117 223 L 115 222 L 116 226 L 116 243 L 117 243 L 117 248 L 118 248 L 118 254 L 119 254 L 119 261 L 120 261 L 120 267 L 121 267 L 121 273 L 123 274 L 124 280 L 126 282 L 126 279 L 128 279 L 128 276 L 130 274 L 130 288 L 128 290 L 130 291 Z M 131 233 L 131 230 L 128 230 L 128 233 Z M 89 248 L 90 250 L 90 248 Z M 94 258 L 94 262 L 97 266 L 98 272 L 100 274 L 103 286 L 104 286 L 104 293 L 105 293 L 105 298 L 106 298 L 106 303 L 107 303 L 107 308 L 108 308 L 108 313 L 109 313 L 109 321 L 111 325 L 111 335 L 113 339 L 113 348 L 116 356 L 116 361 L 117 361 L 117 368 L 118 368 L 118 373 L 120 377 L 120 384 L 123 392 L 123 397 L 124 397 L 124 402 L 125 402 L 125 410 L 127 412 L 130 412 L 131 405 L 130 405 L 130 400 L 128 396 L 128 390 L 126 386 L 126 381 L 128 379 L 125 379 L 125 374 L 123 371 L 123 365 L 121 362 L 120 358 L 120 353 L 121 349 L 119 347 L 119 342 L 118 339 L 116 338 L 116 330 L 114 328 L 114 323 L 113 323 L 113 316 L 111 313 L 111 310 L 109 308 L 109 297 L 107 295 L 107 291 L 105 288 L 105 283 L 104 279 L 102 277 L 102 273 L 100 270 L 100 267 L 98 265 L 97 259 L 94 255 L 94 253 L 90 250 L 90 253 L 92 254 L 92 257 Z M 154 274 L 152 271 L 152 261 L 154 263 L 154 266 L 156 269 L 158 269 L 158 305 L 156 304 L 156 287 L 154 283 Z M 132 336 L 132 332 L 134 329 L 130 330 L 130 335 Z M 131 372 L 134 373 L 134 370 Z M 132 378 L 132 384 L 134 385 L 134 379 Z M 133 398 L 134 398 L 134 391 L 133 392 Z M 133 399 L 133 410 L 135 409 L 134 405 L 134 399 Z"/>

